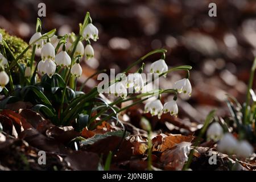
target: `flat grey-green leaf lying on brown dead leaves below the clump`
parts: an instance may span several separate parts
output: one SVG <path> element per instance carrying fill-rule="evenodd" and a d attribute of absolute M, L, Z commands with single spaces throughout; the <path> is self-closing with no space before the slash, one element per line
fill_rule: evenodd
<path fill-rule="evenodd" d="M 104 138 L 107 138 L 110 136 L 117 136 L 117 137 L 122 138 L 124 133 L 125 133 L 125 131 L 118 130 L 118 131 L 111 131 L 111 132 L 108 132 L 105 134 L 96 134 L 92 138 L 88 138 L 88 139 L 82 141 L 81 144 L 86 146 L 88 144 L 93 144 L 93 143 L 97 142 L 98 140 L 101 140 L 101 139 L 104 139 Z M 125 133 L 125 137 L 128 137 L 129 135 L 130 135 L 130 133 L 128 133 L 128 132 Z"/>

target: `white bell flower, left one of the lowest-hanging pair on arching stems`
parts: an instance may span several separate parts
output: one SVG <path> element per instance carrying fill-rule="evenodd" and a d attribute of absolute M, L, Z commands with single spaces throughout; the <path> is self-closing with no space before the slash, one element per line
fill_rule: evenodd
<path fill-rule="evenodd" d="M 160 119 L 162 113 L 163 113 L 163 105 L 160 100 L 155 100 L 152 102 L 147 102 L 147 104 L 144 107 L 144 113 L 150 112 L 151 115 L 158 115 L 158 118 Z"/>

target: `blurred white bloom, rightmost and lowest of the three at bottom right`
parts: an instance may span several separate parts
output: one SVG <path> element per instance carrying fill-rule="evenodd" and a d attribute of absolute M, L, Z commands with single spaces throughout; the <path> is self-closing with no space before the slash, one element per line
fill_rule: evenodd
<path fill-rule="evenodd" d="M 241 140 L 238 142 L 235 149 L 235 153 L 242 158 L 249 157 L 251 154 L 253 154 L 253 151 L 253 147 L 246 140 Z"/>

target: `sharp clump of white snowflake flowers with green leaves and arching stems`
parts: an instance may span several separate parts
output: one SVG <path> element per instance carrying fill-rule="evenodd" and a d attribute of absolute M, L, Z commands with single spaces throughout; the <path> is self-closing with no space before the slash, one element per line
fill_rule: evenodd
<path fill-rule="evenodd" d="M 169 68 L 165 61 L 167 52 L 165 49 L 156 49 L 134 61 L 121 72 L 121 76 L 105 81 L 101 91 L 98 90 L 99 85 L 102 85 L 100 83 L 89 92 L 83 92 L 87 80 L 80 85 L 77 84 L 83 73 L 82 60 L 93 61 L 94 49 L 91 42 L 94 43 L 99 39 L 98 33 L 89 13 L 80 24 L 79 34 L 70 32 L 65 35 L 56 35 L 55 29 L 43 33 L 42 22 L 38 19 L 35 33 L 28 47 L 17 57 L 6 56 L 11 55 L 11 50 L 5 42 L 5 37 L 0 35 L 0 91 L 5 94 L 6 103 L 9 102 L 8 97 L 14 97 L 15 93 L 15 97 L 22 96 L 15 99 L 30 101 L 34 104 L 33 110 L 42 112 L 44 117 L 50 119 L 55 125 L 76 125 L 75 128 L 79 131 L 84 127 L 93 129 L 108 119 L 114 118 L 120 122 L 117 115 L 121 111 L 142 102 L 146 102 L 145 113 L 151 113 L 158 118 L 163 113 L 170 113 L 177 117 L 176 100 L 179 93 L 191 96 L 189 71 L 192 67 L 183 65 Z M 26 57 L 27 63 L 20 63 L 19 59 L 29 49 L 31 57 Z M 36 51 L 40 52 L 40 59 L 35 56 Z M 155 54 L 161 57 L 151 64 L 150 73 L 147 73 L 154 75 L 154 78 L 145 80 L 143 61 Z M 139 68 L 138 71 L 130 73 L 131 68 L 136 66 Z M 14 68 L 18 72 L 10 72 Z M 184 71 L 187 77 L 177 81 L 174 88 L 154 88 L 144 91 L 145 86 L 152 84 L 159 77 L 167 77 L 172 71 Z M 14 74 L 18 74 L 18 77 Z M 101 74 L 105 73 L 100 71 L 93 76 L 98 75 L 100 80 Z M 20 94 L 17 94 L 18 92 Z M 100 99 L 102 93 L 113 94 L 114 101 L 106 104 L 107 102 Z M 174 94 L 174 99 L 164 104 L 164 100 L 160 97 L 162 94 Z M 152 100 L 152 98 L 155 99 Z M 123 102 L 129 105 L 119 108 L 118 105 Z M 110 109 L 112 109 L 111 113 L 109 113 Z M 84 122 L 85 119 L 86 122 Z"/>

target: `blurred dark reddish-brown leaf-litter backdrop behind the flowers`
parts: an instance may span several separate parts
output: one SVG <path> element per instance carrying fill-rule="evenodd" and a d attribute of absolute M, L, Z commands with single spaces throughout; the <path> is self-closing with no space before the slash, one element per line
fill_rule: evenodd
<path fill-rule="evenodd" d="M 77 33 L 90 11 L 100 39 L 92 42 L 95 58 L 83 64 L 81 79 L 104 68 L 122 71 L 152 49 L 165 48 L 168 65 L 193 67 L 192 97 L 179 100 L 180 118 L 201 122 L 213 108 L 225 116 L 226 93 L 245 100 L 256 55 L 255 0 L 1 0 L 0 27 L 28 42 L 40 2 L 46 4 L 43 33 L 53 28 L 60 35 Z M 208 15 L 210 2 L 217 5 L 217 17 Z M 146 63 L 159 58 L 151 56 Z M 184 76 L 184 72 L 171 73 L 160 86 L 171 88 Z M 88 82 L 95 85 L 95 80 Z"/>

